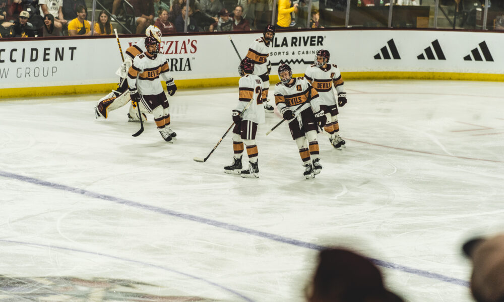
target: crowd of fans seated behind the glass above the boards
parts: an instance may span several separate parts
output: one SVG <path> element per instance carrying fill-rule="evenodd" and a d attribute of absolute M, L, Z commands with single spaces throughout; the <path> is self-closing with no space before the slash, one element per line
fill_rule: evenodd
<path fill-rule="evenodd" d="M 124 5 L 125 1 L 128 5 Z M 288 28 L 292 26 L 291 15 L 294 20 L 293 14 L 297 12 L 299 5 L 289 0 L 281 1 L 282 7 L 292 6 L 288 13 L 283 11 L 278 13 L 281 17 L 280 23 L 289 20 L 289 24 L 281 26 Z M 184 32 L 186 19 L 187 32 L 250 31 L 262 29 L 271 23 L 274 3 L 273 0 L 101 0 L 99 2 L 106 10 L 95 15 L 96 20 L 91 24 L 85 0 L 0 0 L 0 35 L 3 38 L 110 35 L 114 27 L 119 33 L 126 33 L 122 29 L 125 27 L 132 33 L 139 34 L 149 25 L 156 25 L 162 33 L 168 34 Z M 185 16 L 187 6 L 188 14 Z M 310 28 L 321 27 L 317 8 L 313 6 L 310 14 Z"/>

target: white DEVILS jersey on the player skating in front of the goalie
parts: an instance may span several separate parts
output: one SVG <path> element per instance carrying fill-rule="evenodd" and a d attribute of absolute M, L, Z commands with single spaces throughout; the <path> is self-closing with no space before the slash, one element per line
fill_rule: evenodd
<path fill-rule="evenodd" d="M 173 77 L 164 55 L 150 56 L 147 52 L 137 55 L 133 59 L 128 71 L 128 86 L 137 89 L 141 95 L 158 95 L 163 92 L 161 81 L 166 85 L 173 84 Z"/>

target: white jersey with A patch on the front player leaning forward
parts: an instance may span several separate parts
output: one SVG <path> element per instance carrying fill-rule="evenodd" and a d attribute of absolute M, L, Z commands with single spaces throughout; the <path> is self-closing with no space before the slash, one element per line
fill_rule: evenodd
<path fill-rule="evenodd" d="M 288 86 L 282 82 L 275 85 L 275 103 L 278 111 L 282 114 L 287 107 L 292 111 L 303 107 L 298 110 L 298 112 L 302 111 L 311 105 L 311 100 L 319 97 L 317 90 L 310 85 L 306 78 L 293 79 L 294 82 Z"/>

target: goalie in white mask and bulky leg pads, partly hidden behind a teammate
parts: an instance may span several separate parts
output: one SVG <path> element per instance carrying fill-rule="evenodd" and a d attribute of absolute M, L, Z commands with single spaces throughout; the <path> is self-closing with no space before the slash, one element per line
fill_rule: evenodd
<path fill-rule="evenodd" d="M 146 37 L 153 37 L 158 42 L 161 42 L 161 31 L 156 26 L 150 25 L 145 30 Z M 126 105 L 130 101 L 130 93 L 128 91 L 128 70 L 130 69 L 133 59 L 140 53 L 145 52 L 145 39 L 141 38 L 135 44 L 128 47 L 125 52 L 124 61 L 121 66 L 115 72 L 119 75 L 119 84 L 117 90 L 113 90 L 111 93 L 101 98 L 98 101 L 98 104 L 95 107 L 95 115 L 96 118 L 102 116 L 105 119 L 108 117 L 108 112 L 120 108 Z M 138 116 L 138 110 L 133 105 L 134 102 L 130 105 L 130 112 L 128 113 L 128 121 L 129 122 L 140 122 L 140 118 Z M 144 121 L 147 120 L 147 116 L 145 113 L 148 110 L 141 104 L 140 110 L 142 112 L 142 116 Z"/>

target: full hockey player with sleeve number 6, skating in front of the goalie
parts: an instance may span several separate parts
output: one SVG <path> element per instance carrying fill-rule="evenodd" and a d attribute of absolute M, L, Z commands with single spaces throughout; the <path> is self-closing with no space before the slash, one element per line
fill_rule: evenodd
<path fill-rule="evenodd" d="M 145 38 L 146 51 L 133 59 L 128 71 L 128 86 L 132 102 L 143 104 L 148 112 L 154 115 L 161 136 L 171 141 L 176 133 L 170 128 L 170 111 L 161 80 L 166 81 L 166 90 L 170 96 L 175 94 L 177 87 L 173 77 L 168 74 L 168 62 L 159 55 L 159 42 L 154 37 Z"/>

